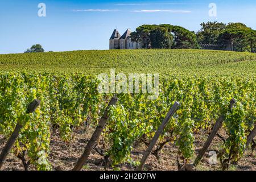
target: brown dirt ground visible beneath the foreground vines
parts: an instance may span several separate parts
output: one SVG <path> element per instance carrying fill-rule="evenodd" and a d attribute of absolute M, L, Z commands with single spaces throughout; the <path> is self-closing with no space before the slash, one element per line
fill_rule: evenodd
<path fill-rule="evenodd" d="M 67 144 L 60 139 L 58 131 L 52 131 L 50 144 L 51 152 L 49 153 L 48 157 L 49 162 L 52 165 L 52 170 L 71 170 L 76 161 L 81 156 L 82 152 L 84 151 L 86 143 L 90 139 L 92 132 L 93 129 L 88 129 L 86 132 L 84 130 L 77 130 L 73 135 L 72 141 Z M 207 132 L 200 133 L 201 134 L 195 134 L 195 157 L 208 137 Z M 0 135 L 0 151 L 2 151 L 2 148 L 6 141 L 7 139 Z M 222 140 L 218 137 L 215 137 L 213 143 L 209 147 L 209 150 L 204 155 L 204 158 L 201 160 L 200 165 L 197 167 L 197 170 L 221 170 L 219 162 L 217 165 L 209 164 L 209 151 L 218 152 L 221 144 Z M 146 146 L 144 146 L 144 144 L 137 144 L 137 146 L 134 146 L 134 150 L 131 155 L 132 158 L 134 160 L 141 159 L 143 151 L 145 149 Z M 175 144 L 168 143 L 166 144 L 166 146 L 163 147 L 163 150 L 160 152 L 160 162 L 158 162 L 154 155 L 150 155 L 146 162 L 145 169 L 149 171 L 176 171 L 178 169 L 176 155 L 177 147 L 175 146 Z M 104 170 L 104 164 L 104 158 L 93 150 L 82 170 L 102 171 Z M 122 164 L 114 169 L 134 170 L 134 168 L 135 167 L 131 166 L 131 164 Z M 24 170 L 21 160 L 16 158 L 13 154 L 9 154 L 2 169 L 6 171 Z M 31 165 L 30 170 L 35 170 L 35 167 Z M 113 168 L 109 167 L 108 170 L 113 170 Z M 247 150 L 243 158 L 238 162 L 238 164 L 230 166 L 229 170 L 256 171 L 256 151 L 254 150 L 252 152 Z"/>

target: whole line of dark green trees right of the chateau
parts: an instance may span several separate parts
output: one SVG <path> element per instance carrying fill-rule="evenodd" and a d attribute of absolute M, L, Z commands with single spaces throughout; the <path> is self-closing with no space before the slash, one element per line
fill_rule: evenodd
<path fill-rule="evenodd" d="M 131 39 L 143 42 L 143 48 L 197 49 L 200 44 L 214 44 L 220 49 L 256 52 L 256 31 L 242 23 L 201 23 L 197 33 L 171 24 L 144 24 L 131 33 Z"/>

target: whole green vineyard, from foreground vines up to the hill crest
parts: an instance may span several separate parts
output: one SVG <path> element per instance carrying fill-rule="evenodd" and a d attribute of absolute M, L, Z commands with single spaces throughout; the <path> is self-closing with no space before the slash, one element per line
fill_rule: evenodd
<path fill-rule="evenodd" d="M 147 100 L 148 94 L 142 93 L 98 93 L 97 75 L 113 68 L 125 74 L 159 73 L 159 97 Z M 256 166 L 255 70 L 255 54 L 225 51 L 141 49 L 0 55 L 1 142 L 6 143 L 19 125 L 11 154 L 22 161 L 24 169 L 53 170 L 49 160 L 52 136 L 72 146 L 77 131 L 91 136 L 106 118 L 101 137 L 92 148 L 101 156 L 100 165 L 136 169 L 142 155 L 132 157 L 134 149 L 143 146 L 143 154 L 150 147 L 168 111 L 179 103 L 150 151 L 158 163 L 164 147 L 172 145 L 177 168 L 190 164 L 196 168 L 200 151 L 195 149 L 195 136 L 203 136 L 204 144 L 221 118 L 220 130 L 213 136 L 221 140 L 215 150 L 217 169 L 237 165 L 245 152 L 252 152 Z M 113 98 L 117 102 L 109 105 Z M 40 105 L 28 112 L 35 99 Z M 230 106 L 230 100 L 236 103 Z M 103 117 L 106 111 L 108 117 Z M 76 152 L 81 155 L 83 151 Z M 69 162 L 69 169 L 77 160 Z"/>

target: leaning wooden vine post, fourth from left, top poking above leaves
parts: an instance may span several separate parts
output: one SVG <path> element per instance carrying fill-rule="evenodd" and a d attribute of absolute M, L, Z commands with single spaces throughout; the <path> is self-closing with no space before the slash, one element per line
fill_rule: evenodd
<path fill-rule="evenodd" d="M 236 104 L 236 100 L 232 99 L 229 104 L 229 109 L 231 110 L 235 104 Z M 224 121 L 224 115 L 221 115 L 217 119 L 215 125 L 213 126 L 212 133 L 210 133 L 210 135 L 207 139 L 207 142 L 205 142 L 203 148 L 200 150 L 199 154 L 197 155 L 196 160 L 193 164 L 194 166 L 197 166 L 199 164 L 200 160 L 203 158 L 205 152 L 207 151 L 207 149 L 210 146 L 210 143 L 212 143 L 213 138 L 216 136 L 218 130 L 222 127 L 223 121 Z"/>

